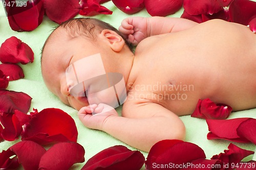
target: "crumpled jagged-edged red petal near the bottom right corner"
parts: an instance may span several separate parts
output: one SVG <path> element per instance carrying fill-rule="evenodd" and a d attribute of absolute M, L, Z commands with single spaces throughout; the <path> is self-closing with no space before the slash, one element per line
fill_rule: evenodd
<path fill-rule="evenodd" d="M 221 163 L 227 165 L 228 168 L 225 168 L 226 170 L 232 170 L 231 164 L 237 164 L 245 157 L 252 155 L 253 151 L 247 151 L 244 149 L 241 149 L 234 145 L 233 143 L 230 143 L 228 145 L 228 150 L 224 150 L 224 153 L 220 153 L 219 155 L 212 156 L 211 159 L 218 159 Z"/>

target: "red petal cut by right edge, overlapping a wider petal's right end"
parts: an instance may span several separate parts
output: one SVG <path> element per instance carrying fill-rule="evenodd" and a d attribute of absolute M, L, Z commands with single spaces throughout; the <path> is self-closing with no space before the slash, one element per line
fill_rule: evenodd
<path fill-rule="evenodd" d="M 256 119 L 249 118 L 242 122 L 237 128 L 237 134 L 256 145 Z"/>

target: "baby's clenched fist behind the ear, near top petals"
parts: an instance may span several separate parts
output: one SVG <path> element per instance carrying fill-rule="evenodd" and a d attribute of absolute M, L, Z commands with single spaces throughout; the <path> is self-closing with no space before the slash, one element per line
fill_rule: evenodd
<path fill-rule="evenodd" d="M 149 36 L 147 30 L 148 18 L 145 17 L 129 17 L 125 18 L 121 22 L 119 31 L 125 36 L 125 38 L 132 42 L 134 45 L 138 45 L 140 41 Z"/>

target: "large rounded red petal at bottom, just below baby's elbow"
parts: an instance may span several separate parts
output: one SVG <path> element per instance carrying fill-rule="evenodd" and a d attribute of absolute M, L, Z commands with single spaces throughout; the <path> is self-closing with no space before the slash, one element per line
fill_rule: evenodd
<path fill-rule="evenodd" d="M 204 158 L 206 158 L 204 151 L 194 143 L 181 140 L 162 140 L 153 145 L 147 155 L 145 165 L 147 170 L 164 170 L 165 168 L 157 168 L 153 164 L 168 164 L 170 162 L 183 164 Z"/>

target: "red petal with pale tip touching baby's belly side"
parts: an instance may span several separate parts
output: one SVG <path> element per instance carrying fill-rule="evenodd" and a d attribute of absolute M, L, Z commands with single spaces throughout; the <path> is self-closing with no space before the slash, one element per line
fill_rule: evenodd
<path fill-rule="evenodd" d="M 231 113 L 232 108 L 225 104 L 215 104 L 210 99 L 199 99 L 197 107 L 191 117 L 205 119 L 225 119 Z"/>

